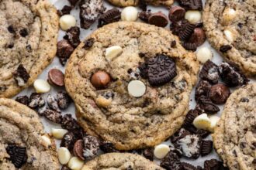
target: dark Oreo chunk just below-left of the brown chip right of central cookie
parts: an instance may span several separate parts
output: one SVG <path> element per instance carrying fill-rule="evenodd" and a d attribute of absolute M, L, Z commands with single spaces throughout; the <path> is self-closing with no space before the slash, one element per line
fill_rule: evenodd
<path fill-rule="evenodd" d="M 208 114 L 216 114 L 216 112 L 220 111 L 220 108 L 214 105 L 209 97 L 206 96 L 199 97 L 197 107 L 206 111 Z"/>

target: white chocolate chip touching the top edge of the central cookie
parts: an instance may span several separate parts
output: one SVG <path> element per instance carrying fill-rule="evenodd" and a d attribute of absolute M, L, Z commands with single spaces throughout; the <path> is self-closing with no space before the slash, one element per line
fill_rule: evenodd
<path fill-rule="evenodd" d="M 123 11 L 121 13 L 121 19 L 123 21 L 129 21 L 129 22 L 136 21 L 138 19 L 137 8 L 133 6 L 127 6 L 126 8 L 123 8 Z"/>

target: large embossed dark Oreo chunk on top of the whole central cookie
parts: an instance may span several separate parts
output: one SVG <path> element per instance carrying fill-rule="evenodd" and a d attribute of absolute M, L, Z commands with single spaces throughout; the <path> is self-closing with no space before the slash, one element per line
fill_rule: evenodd
<path fill-rule="evenodd" d="M 176 75 L 175 60 L 164 54 L 157 54 L 139 66 L 141 76 L 147 78 L 151 86 L 161 86 Z"/>

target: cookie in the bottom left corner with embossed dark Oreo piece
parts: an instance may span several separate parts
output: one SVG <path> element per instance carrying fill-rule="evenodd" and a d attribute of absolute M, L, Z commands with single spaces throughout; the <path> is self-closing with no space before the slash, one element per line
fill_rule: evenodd
<path fill-rule="evenodd" d="M 34 110 L 0 99 L 0 169 L 60 169 L 54 139 Z"/>

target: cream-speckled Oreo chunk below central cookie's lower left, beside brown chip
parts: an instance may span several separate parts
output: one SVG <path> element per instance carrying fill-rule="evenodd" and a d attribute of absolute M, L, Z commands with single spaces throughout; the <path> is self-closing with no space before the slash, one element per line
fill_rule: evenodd
<path fill-rule="evenodd" d="M 98 155 L 99 151 L 99 140 L 93 136 L 85 136 L 83 138 L 84 140 L 84 150 L 83 150 L 83 156 L 84 158 L 90 159 L 94 158 L 96 155 Z"/>

